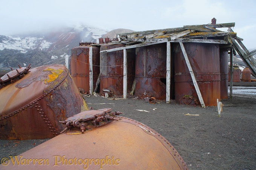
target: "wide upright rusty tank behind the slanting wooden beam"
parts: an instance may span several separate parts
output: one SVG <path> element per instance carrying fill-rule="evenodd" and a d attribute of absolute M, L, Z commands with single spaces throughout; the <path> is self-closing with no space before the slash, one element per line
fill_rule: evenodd
<path fill-rule="evenodd" d="M 219 45 L 208 43 L 183 43 L 195 74 L 205 106 L 216 106 L 220 97 Z M 174 44 L 175 100 L 185 95 L 193 96 L 199 102 L 188 66 L 181 47 Z"/>

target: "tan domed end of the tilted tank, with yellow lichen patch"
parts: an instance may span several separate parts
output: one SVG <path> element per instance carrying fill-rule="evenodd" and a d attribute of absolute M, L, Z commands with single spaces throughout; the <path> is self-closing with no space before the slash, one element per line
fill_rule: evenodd
<path fill-rule="evenodd" d="M 28 68 L 21 67 L 20 70 L 17 70 L 20 73 L 27 72 Z M 17 71 L 13 70 L 13 72 Z M 11 75 L 9 76 L 11 77 Z M 30 69 L 29 73 L 22 79 L 15 80 L 15 82 L 0 89 L 0 96 L 5 99 L 0 102 L 0 115 L 6 115 L 24 107 L 43 94 L 47 95 L 48 92 L 57 88 L 67 75 L 67 69 L 61 64 L 43 65 Z M 14 76 L 17 76 L 17 74 L 14 74 Z"/>

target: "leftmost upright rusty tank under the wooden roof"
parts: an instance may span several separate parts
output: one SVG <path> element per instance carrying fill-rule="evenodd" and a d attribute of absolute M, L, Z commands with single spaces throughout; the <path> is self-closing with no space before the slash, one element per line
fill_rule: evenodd
<path fill-rule="evenodd" d="M 89 46 L 72 48 L 70 63 L 70 72 L 75 84 L 78 88 L 82 88 L 84 92 L 89 92 Z M 95 88 L 100 74 L 100 47 L 92 47 L 92 65 L 93 86 Z"/>

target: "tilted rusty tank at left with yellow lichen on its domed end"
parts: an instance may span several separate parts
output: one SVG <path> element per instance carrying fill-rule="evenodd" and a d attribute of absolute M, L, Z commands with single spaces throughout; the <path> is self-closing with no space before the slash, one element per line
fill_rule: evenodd
<path fill-rule="evenodd" d="M 55 137 L 63 130 L 58 121 L 88 110 L 64 65 L 30 69 L 21 79 L 0 87 L 3 140 Z"/>

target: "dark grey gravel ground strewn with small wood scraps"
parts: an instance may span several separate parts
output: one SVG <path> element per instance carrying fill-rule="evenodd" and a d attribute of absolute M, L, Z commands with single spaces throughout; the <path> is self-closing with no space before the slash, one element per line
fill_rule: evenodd
<path fill-rule="evenodd" d="M 233 99 L 222 100 L 221 117 L 216 106 L 201 108 L 175 101 L 150 104 L 134 97 L 108 100 L 91 96 L 85 100 L 89 107 L 112 108 L 151 127 L 170 141 L 191 170 L 256 169 L 255 94 L 234 94 Z M 46 140 L 0 140 L 0 158 L 19 155 Z"/>

